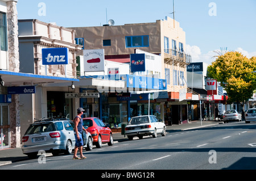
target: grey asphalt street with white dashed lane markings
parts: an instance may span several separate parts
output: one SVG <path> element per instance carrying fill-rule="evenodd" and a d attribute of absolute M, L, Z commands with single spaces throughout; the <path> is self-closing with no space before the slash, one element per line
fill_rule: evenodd
<path fill-rule="evenodd" d="M 108 170 L 251 170 L 256 169 L 255 138 L 255 123 L 232 122 L 84 150 L 87 158 L 82 160 L 73 160 L 73 155 L 42 156 L 1 170 L 105 170 L 104 176 Z"/>

